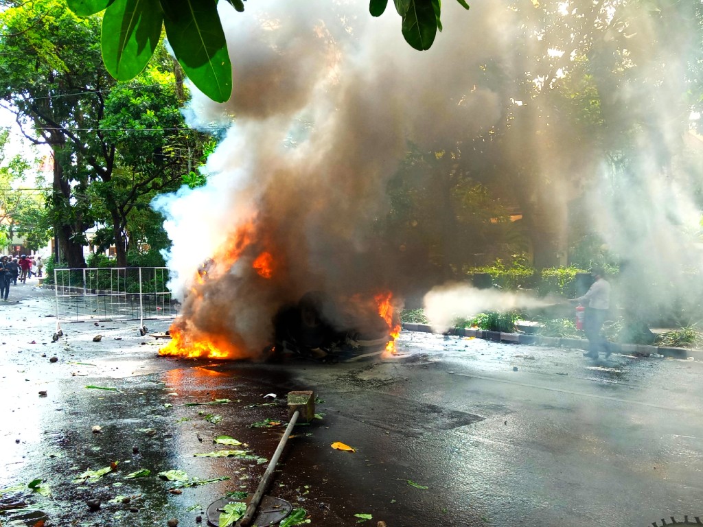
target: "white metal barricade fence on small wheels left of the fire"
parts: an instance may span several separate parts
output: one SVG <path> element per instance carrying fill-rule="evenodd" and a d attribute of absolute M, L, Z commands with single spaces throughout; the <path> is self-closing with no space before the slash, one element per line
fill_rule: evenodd
<path fill-rule="evenodd" d="M 53 270 L 56 330 L 61 323 L 176 318 L 178 307 L 166 267 L 61 268 Z"/>

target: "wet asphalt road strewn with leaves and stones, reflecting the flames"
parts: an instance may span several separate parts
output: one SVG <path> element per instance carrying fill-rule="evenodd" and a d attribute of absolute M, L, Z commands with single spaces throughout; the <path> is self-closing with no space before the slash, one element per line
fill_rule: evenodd
<path fill-rule="evenodd" d="M 306 509 L 311 526 L 354 526 L 354 514 L 372 514 L 360 525 L 374 527 L 645 527 L 703 516 L 697 359 L 593 363 L 578 350 L 406 332 L 392 360 L 196 362 L 157 357 L 160 341 L 140 337 L 136 322 L 63 325 L 54 343 L 51 292 L 27 284 L 11 295 L 0 305 L 0 489 L 25 488 L 1 493 L 3 526 L 196 526 L 198 516 L 205 525 L 207 505 L 253 492 L 266 464 L 194 455 L 271 457 L 283 427 L 250 424 L 285 422 L 264 395 L 294 389 L 316 391 L 322 419 L 297 427 L 269 494 Z M 204 404 L 217 399 L 229 402 Z M 214 444 L 221 434 L 245 445 Z M 140 469 L 150 475 L 126 478 Z M 179 489 L 156 476 L 172 469 L 228 479 Z M 35 479 L 48 495 L 26 488 Z M 91 499 L 101 500 L 95 512 Z"/>

